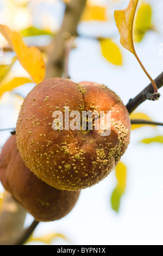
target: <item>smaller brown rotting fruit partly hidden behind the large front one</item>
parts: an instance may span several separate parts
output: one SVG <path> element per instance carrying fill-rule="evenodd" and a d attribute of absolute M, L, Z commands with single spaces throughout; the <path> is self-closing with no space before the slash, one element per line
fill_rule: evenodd
<path fill-rule="evenodd" d="M 0 156 L 0 180 L 6 190 L 37 221 L 48 222 L 66 216 L 76 205 L 80 192 L 68 192 L 48 186 L 31 172 L 10 136 Z"/>

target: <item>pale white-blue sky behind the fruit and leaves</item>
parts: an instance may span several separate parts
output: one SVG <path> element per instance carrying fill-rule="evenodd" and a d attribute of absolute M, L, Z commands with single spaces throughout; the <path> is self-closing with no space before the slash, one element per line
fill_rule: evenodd
<path fill-rule="evenodd" d="M 121 2 L 119 9 L 127 7 L 129 1 Z M 158 32 L 147 33 L 135 47 L 149 74 L 155 78 L 163 67 L 163 56 L 159 55 L 159 45 L 163 43 L 163 2 L 146 2 L 152 4 L 153 23 Z M 44 10 L 48 12 L 46 8 Z M 39 10 L 35 11 L 37 13 Z M 55 7 L 56 15 L 59 16 L 62 11 L 61 4 Z M 107 62 L 96 40 L 79 38 L 76 40 L 77 49 L 70 55 L 70 75 L 73 81 L 105 84 L 121 97 L 124 104 L 149 84 L 135 57 L 120 46 L 115 22 L 111 25 L 82 24 L 78 29 L 82 34 L 116 35 L 114 41 L 123 53 L 123 66 L 115 67 Z M 13 72 L 17 73 L 18 70 L 17 67 Z M 31 88 L 26 85 L 17 91 L 26 95 Z M 159 92 L 163 95 L 163 88 Z M 0 102 L 0 129 L 16 125 L 17 112 L 10 102 L 11 96 L 6 93 Z M 143 103 L 137 112 L 144 112 L 154 121 L 163 122 L 162 107 L 161 97 L 158 102 Z M 9 135 L 8 132 L 0 133 L 0 146 L 3 146 Z M 130 145 L 121 159 L 127 165 L 128 175 L 119 213 L 115 213 L 110 204 L 112 190 L 116 187 L 115 171 L 112 171 L 99 184 L 82 191 L 77 205 L 69 215 L 59 221 L 40 223 L 34 234 L 61 233 L 70 240 L 66 242 L 57 239 L 54 245 L 163 245 L 163 145 L 140 143 L 142 139 L 156 135 L 163 135 L 162 127 L 143 127 L 131 133 Z M 26 226 L 32 221 L 33 217 L 28 215 Z"/>

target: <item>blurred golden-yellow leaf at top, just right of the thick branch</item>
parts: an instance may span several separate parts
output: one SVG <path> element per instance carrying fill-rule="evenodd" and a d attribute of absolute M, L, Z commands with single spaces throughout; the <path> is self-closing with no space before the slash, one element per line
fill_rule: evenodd
<path fill-rule="evenodd" d="M 106 7 L 87 4 L 82 15 L 83 21 L 106 21 Z"/>

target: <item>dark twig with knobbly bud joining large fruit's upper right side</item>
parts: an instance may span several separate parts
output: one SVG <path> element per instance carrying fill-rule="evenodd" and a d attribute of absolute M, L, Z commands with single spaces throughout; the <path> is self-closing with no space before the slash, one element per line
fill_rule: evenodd
<path fill-rule="evenodd" d="M 161 88 L 163 86 L 163 72 L 154 80 L 156 86 Z M 133 99 L 130 99 L 126 108 L 131 114 L 139 105 L 148 100 L 157 100 L 160 97 L 160 93 L 153 93 L 153 86 L 149 84 L 143 91 L 141 91 L 137 96 Z"/>

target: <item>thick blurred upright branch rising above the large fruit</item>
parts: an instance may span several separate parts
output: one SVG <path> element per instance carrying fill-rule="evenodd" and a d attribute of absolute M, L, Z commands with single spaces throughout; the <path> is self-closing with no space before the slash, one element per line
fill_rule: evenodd
<path fill-rule="evenodd" d="M 49 54 L 45 79 L 62 77 L 65 60 L 65 39 L 77 34 L 77 26 L 82 16 L 86 0 L 71 0 L 66 6 L 64 20 L 58 35 L 54 38 L 53 49 Z"/>

